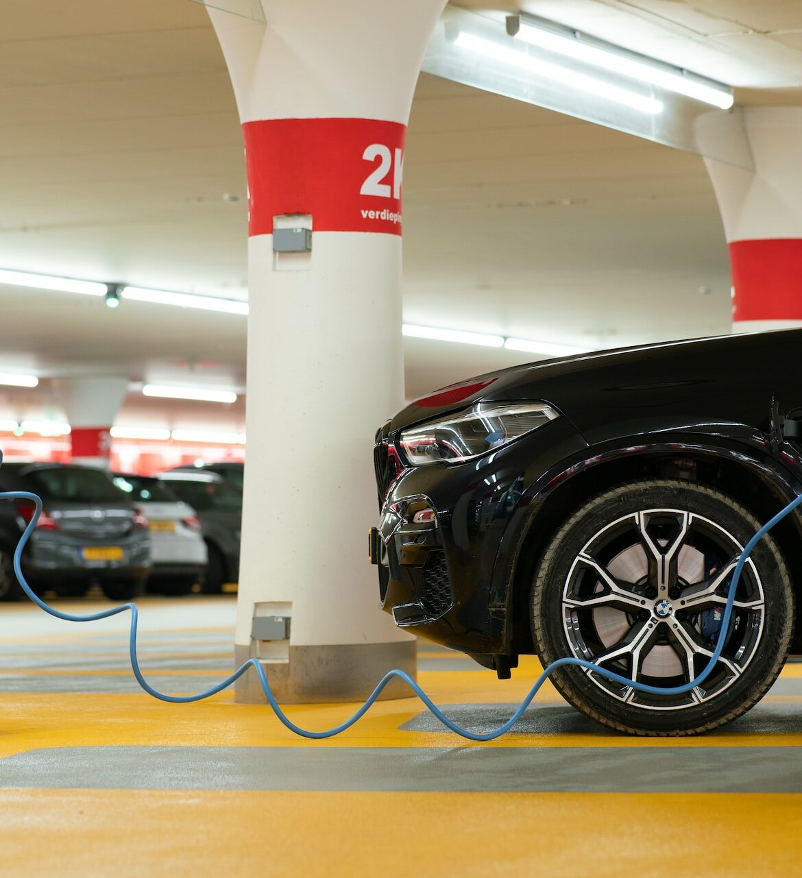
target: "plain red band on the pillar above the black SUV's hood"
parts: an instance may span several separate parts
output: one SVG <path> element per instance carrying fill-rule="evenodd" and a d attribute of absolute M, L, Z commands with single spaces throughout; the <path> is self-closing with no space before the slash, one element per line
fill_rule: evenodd
<path fill-rule="evenodd" d="M 802 320 L 802 240 L 733 241 L 733 320 Z"/>

